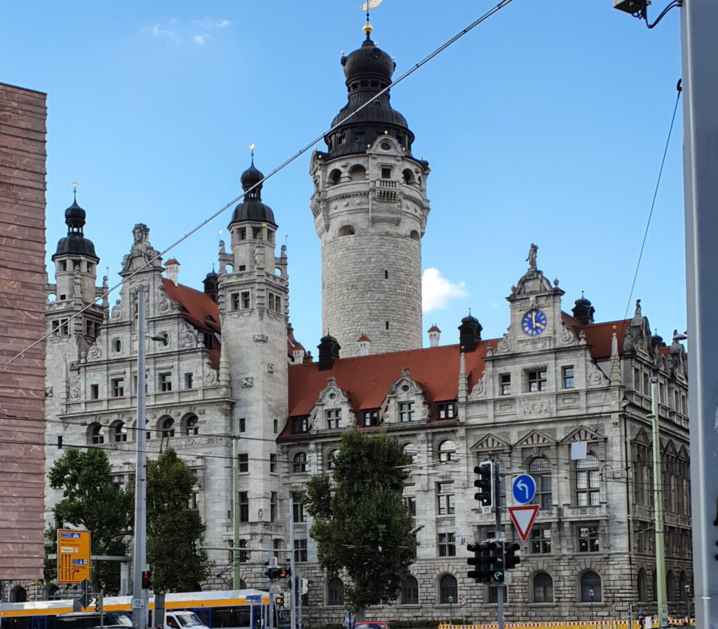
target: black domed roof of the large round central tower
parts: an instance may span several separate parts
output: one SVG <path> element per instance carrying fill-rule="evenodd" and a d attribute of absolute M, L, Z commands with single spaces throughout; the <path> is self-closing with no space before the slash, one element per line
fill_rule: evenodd
<path fill-rule="evenodd" d="M 330 159 L 365 153 L 367 145 L 385 135 L 385 131 L 387 135 L 398 140 L 406 149 L 407 155 L 411 155 L 414 133 L 409 130 L 406 118 L 391 108 L 388 90 L 349 118 L 351 113 L 391 85 L 391 76 L 396 67 L 391 57 L 371 40 L 371 31 L 370 24 L 366 24 L 366 39 L 361 47 L 341 59 L 346 77 L 348 103 L 332 120 L 332 128 L 339 126 L 324 138 L 329 147 Z"/>

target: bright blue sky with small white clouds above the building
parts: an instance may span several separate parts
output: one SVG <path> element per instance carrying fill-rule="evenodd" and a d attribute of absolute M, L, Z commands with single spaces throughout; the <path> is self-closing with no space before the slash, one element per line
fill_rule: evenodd
<path fill-rule="evenodd" d="M 319 136 L 346 102 L 339 60 L 363 39 L 360 4 L 0 0 L 0 81 L 48 94 L 48 263 L 73 181 L 114 282 L 136 222 L 162 250 L 239 194 L 250 143 L 266 173 Z M 384 0 L 373 39 L 397 77 L 493 4 Z M 437 323 L 455 342 L 471 308 L 485 338 L 503 334 L 531 242 L 564 310 L 584 290 L 597 320 L 622 318 L 679 76 L 678 11 L 649 31 L 610 0 L 514 0 L 396 86 L 414 154 L 432 166 L 424 331 Z M 666 339 L 686 327 L 681 135 L 679 108 L 633 295 Z M 308 168 L 308 155 L 295 161 L 263 200 L 287 237 L 291 320 L 311 349 Z M 171 253 L 180 282 L 202 287 L 230 215 Z"/>

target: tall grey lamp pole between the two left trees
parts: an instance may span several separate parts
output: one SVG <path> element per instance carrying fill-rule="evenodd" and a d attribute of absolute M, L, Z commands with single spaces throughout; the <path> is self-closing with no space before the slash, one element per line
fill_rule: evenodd
<path fill-rule="evenodd" d="M 137 291 L 137 457 L 135 463 L 135 524 L 132 559 L 132 626 L 147 628 L 147 591 L 142 589 L 147 546 L 147 453 L 144 377 L 144 292 Z"/>

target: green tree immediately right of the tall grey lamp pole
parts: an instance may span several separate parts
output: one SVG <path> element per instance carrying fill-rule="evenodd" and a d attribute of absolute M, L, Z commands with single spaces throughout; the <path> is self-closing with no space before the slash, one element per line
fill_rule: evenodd
<path fill-rule="evenodd" d="M 147 563 L 157 592 L 192 592 L 210 575 L 207 553 L 195 552 L 205 532 L 200 512 L 189 506 L 195 483 L 172 449 L 147 461 Z"/>

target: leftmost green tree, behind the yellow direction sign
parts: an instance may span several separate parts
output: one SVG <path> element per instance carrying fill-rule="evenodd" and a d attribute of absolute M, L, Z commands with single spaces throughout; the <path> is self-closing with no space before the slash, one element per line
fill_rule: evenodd
<path fill-rule="evenodd" d="M 57 552 L 57 529 L 87 529 L 92 554 L 126 555 L 131 501 L 115 486 L 110 460 L 98 448 L 67 450 L 55 461 L 49 475 L 50 487 L 62 489 L 62 500 L 52 509 L 55 524 L 45 531 L 47 548 Z M 45 562 L 45 578 L 57 576 L 57 562 Z M 93 588 L 116 594 L 120 585 L 118 562 L 95 561 L 92 564 Z"/>

